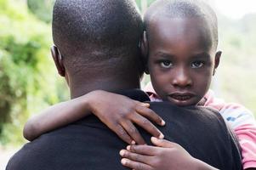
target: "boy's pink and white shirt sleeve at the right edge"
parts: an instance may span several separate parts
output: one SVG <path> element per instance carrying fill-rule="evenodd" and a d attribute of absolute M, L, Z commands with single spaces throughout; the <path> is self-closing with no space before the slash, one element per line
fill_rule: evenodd
<path fill-rule="evenodd" d="M 220 113 L 235 131 L 241 145 L 243 169 L 256 169 L 256 122 L 253 113 L 234 103 L 225 104 Z"/>

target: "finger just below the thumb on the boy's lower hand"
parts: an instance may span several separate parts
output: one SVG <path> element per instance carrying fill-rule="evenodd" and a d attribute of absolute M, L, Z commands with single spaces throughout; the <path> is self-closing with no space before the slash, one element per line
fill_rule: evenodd
<path fill-rule="evenodd" d="M 156 156 L 159 152 L 155 146 L 145 144 L 131 144 L 127 146 L 127 150 L 145 156 Z"/>

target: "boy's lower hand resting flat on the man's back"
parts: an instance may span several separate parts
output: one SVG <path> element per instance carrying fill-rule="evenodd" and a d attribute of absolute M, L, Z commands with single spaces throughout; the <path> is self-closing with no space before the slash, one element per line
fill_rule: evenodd
<path fill-rule="evenodd" d="M 179 144 L 154 137 L 151 141 L 156 146 L 133 144 L 128 146 L 128 150 L 121 150 L 122 165 L 136 170 L 198 169 L 201 161 L 192 157 Z"/>

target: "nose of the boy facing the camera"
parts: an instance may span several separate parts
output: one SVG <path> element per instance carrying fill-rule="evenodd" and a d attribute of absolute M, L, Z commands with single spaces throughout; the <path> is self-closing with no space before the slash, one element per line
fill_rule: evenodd
<path fill-rule="evenodd" d="M 172 84 L 176 88 L 190 87 L 192 85 L 192 80 L 188 71 L 185 71 L 185 69 L 177 70 L 175 72 Z"/>

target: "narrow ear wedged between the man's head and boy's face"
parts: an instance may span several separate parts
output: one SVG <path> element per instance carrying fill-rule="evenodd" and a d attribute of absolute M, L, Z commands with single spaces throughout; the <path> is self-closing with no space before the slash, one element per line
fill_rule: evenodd
<path fill-rule="evenodd" d="M 149 45 L 146 37 L 146 31 L 143 32 L 143 36 L 140 42 L 140 50 L 143 58 L 143 63 L 145 65 L 145 73 L 149 74 L 149 69 L 148 69 L 148 51 L 149 51 Z"/>

